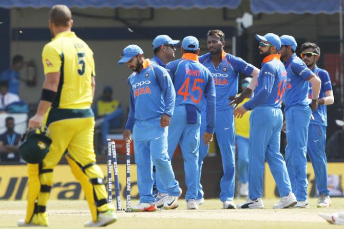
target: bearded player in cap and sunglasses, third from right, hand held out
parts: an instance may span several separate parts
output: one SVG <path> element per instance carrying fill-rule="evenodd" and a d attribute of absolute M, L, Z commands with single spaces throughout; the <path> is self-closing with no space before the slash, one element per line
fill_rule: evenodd
<path fill-rule="evenodd" d="M 267 33 L 256 35 L 259 54 L 264 58 L 258 75 L 255 96 L 234 110 L 236 118 L 242 118 L 247 110 L 250 116 L 249 143 L 249 197 L 238 204 L 239 208 L 264 208 L 262 201 L 264 162 L 269 164 L 279 190 L 281 200 L 273 208 L 289 208 L 297 201 L 292 193 L 283 156 L 280 153 L 280 137 L 283 124 L 281 103 L 285 90 L 286 71 L 280 61 L 279 36 Z"/>

